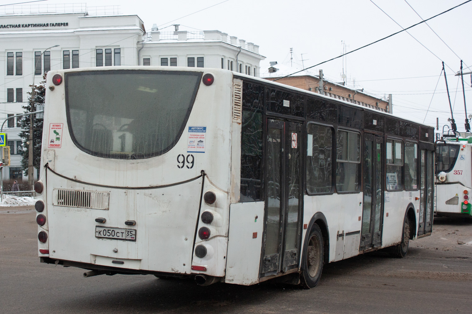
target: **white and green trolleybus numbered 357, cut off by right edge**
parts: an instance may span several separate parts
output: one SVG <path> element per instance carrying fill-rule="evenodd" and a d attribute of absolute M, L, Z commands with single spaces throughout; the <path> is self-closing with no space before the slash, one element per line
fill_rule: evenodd
<path fill-rule="evenodd" d="M 435 214 L 471 218 L 472 137 L 444 134 L 436 143 Z"/>

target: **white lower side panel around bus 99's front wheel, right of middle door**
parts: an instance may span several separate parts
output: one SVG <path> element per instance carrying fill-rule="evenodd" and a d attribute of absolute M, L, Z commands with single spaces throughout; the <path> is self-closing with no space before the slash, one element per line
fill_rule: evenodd
<path fill-rule="evenodd" d="M 409 203 L 412 203 L 414 206 L 416 230 L 418 230 L 418 213 L 416 209 L 420 208 L 420 191 L 385 191 L 384 193 L 382 248 L 398 244 L 402 241 L 403 220 L 405 219 L 406 207 Z M 415 200 L 415 198 L 418 198 L 418 200 Z"/>

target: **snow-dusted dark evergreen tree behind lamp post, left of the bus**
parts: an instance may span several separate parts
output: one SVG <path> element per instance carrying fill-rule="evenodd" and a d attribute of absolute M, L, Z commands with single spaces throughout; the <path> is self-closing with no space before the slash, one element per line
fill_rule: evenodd
<path fill-rule="evenodd" d="M 30 85 L 30 88 L 34 88 L 34 108 L 37 105 L 44 105 L 44 96 L 46 94 L 46 73 L 42 76 L 42 81 L 39 84 Z M 25 109 L 25 113 L 32 112 L 31 110 L 31 94 L 32 91 L 27 92 L 28 102 L 25 103 L 22 108 Z M 39 169 L 41 166 L 41 143 L 42 143 L 42 119 L 36 119 L 35 115 L 26 115 L 21 117 L 20 127 L 23 129 L 19 133 L 19 136 L 23 139 L 23 145 L 18 149 L 21 155 L 21 169 L 28 174 L 28 158 L 29 158 L 29 145 L 26 142 L 29 141 L 29 127 L 30 119 L 33 118 L 33 167 Z"/>

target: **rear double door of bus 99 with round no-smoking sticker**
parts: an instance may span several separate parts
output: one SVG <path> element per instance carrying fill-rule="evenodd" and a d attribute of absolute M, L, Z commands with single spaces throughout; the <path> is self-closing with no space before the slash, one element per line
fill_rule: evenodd
<path fill-rule="evenodd" d="M 266 214 L 261 276 L 285 272 L 297 265 L 301 129 L 301 123 L 267 120 Z"/>

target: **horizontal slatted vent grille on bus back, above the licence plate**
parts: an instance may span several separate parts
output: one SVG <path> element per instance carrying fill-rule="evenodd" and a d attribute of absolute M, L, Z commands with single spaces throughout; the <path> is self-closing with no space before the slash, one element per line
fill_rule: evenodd
<path fill-rule="evenodd" d="M 110 193 L 77 190 L 53 190 L 52 204 L 56 206 L 109 209 Z"/>

